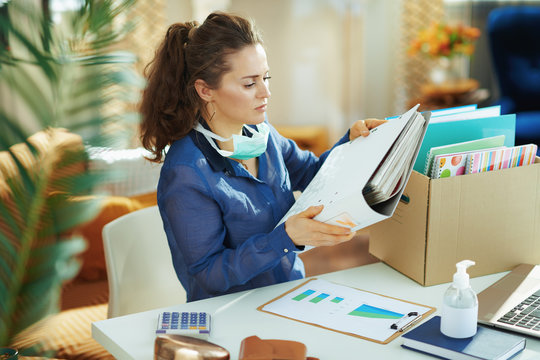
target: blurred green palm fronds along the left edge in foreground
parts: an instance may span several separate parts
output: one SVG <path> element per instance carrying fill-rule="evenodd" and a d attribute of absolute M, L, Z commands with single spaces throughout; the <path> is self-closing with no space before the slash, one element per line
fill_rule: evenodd
<path fill-rule="evenodd" d="M 112 50 L 132 26 L 119 16 L 133 3 L 84 0 L 55 22 L 35 1 L 0 1 L 0 92 L 10 98 L 0 108 L 0 347 L 58 311 L 61 285 L 79 268 L 85 244 L 73 229 L 99 209 L 87 195 L 103 174 L 70 169 L 86 164 L 89 146 L 118 140 L 123 132 L 109 136 L 115 124 L 133 119 L 111 110 L 135 101 L 142 85 L 135 56 Z M 40 132 L 55 142 L 57 128 L 84 146 L 59 156 L 29 140 Z"/>

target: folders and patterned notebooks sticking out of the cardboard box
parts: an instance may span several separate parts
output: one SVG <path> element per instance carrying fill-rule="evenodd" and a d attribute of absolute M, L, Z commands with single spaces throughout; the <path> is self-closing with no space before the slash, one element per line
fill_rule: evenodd
<path fill-rule="evenodd" d="M 434 111 L 415 170 L 438 179 L 534 163 L 537 145 L 514 146 L 514 135 L 515 114 L 501 115 L 500 106 Z"/>

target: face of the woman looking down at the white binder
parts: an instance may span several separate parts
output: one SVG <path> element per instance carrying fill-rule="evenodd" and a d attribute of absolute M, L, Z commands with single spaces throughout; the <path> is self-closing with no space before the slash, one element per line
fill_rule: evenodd
<path fill-rule="evenodd" d="M 246 46 L 228 56 L 231 71 L 225 73 L 219 88 L 213 89 L 212 103 L 216 111 L 211 120 L 222 130 L 238 133 L 243 124 L 264 121 L 268 89 L 268 63 L 262 45 Z M 208 110 L 214 111 L 212 105 Z"/>

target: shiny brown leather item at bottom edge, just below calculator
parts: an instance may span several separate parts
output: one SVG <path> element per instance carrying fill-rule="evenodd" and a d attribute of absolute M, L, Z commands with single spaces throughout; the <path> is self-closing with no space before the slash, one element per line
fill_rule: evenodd
<path fill-rule="evenodd" d="M 182 335 L 159 335 L 154 360 L 229 360 L 227 349 L 206 340 Z"/>

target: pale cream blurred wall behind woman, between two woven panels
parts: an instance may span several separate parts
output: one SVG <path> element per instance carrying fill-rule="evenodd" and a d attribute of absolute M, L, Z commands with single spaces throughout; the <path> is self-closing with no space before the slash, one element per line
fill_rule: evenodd
<path fill-rule="evenodd" d="M 414 0 L 416 1 L 416 0 Z M 437 0 L 435 1 L 437 2 Z M 167 22 L 215 9 L 262 30 L 275 125 L 321 125 L 337 139 L 356 119 L 394 114 L 400 0 L 168 1 Z"/>

